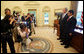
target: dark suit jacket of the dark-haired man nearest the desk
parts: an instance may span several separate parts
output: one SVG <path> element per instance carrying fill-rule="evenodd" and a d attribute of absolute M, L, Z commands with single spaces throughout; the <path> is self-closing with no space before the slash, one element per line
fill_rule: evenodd
<path fill-rule="evenodd" d="M 69 19 L 64 26 L 64 33 L 73 33 L 76 27 L 76 23 L 76 18 L 71 17 L 71 19 Z"/>

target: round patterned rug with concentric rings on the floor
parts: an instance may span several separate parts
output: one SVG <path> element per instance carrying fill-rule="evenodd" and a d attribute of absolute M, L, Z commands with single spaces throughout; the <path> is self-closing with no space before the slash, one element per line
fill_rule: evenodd
<path fill-rule="evenodd" d="M 29 49 L 25 45 L 22 46 L 22 52 L 29 53 L 50 53 L 52 51 L 51 42 L 45 38 L 32 38 L 33 41 L 29 45 Z"/>

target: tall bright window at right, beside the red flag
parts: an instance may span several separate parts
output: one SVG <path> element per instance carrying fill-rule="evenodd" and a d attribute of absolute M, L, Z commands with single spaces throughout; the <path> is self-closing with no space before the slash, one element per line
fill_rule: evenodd
<path fill-rule="evenodd" d="M 82 26 L 81 23 L 82 12 L 83 12 L 83 1 L 78 1 L 77 16 L 76 16 L 77 26 Z"/>

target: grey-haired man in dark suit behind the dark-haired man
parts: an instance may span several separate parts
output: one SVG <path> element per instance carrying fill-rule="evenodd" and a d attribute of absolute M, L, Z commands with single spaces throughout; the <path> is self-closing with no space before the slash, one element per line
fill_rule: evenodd
<path fill-rule="evenodd" d="M 67 11 L 68 11 L 68 9 L 64 8 L 63 9 L 63 13 L 60 15 L 60 20 L 59 20 L 59 24 L 60 24 L 60 37 L 58 38 L 58 40 L 61 40 L 60 42 L 63 42 L 63 38 L 64 38 L 63 30 L 64 30 L 64 25 L 66 23 L 66 19 L 68 18 Z"/>

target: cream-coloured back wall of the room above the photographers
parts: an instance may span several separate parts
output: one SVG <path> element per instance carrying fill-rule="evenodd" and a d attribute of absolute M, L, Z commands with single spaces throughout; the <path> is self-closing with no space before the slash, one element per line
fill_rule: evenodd
<path fill-rule="evenodd" d="M 38 5 L 24 5 L 24 4 L 38 4 Z M 4 9 L 9 8 L 13 11 L 13 8 L 18 6 L 21 8 L 22 13 L 27 13 L 28 9 L 37 9 L 37 26 L 44 25 L 44 12 L 43 8 L 48 6 L 49 11 L 49 25 L 53 26 L 54 19 L 54 10 L 67 7 L 70 9 L 71 1 L 1 1 L 1 16 L 4 16 Z"/>

